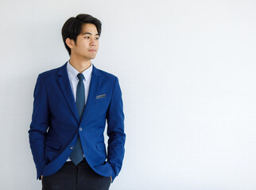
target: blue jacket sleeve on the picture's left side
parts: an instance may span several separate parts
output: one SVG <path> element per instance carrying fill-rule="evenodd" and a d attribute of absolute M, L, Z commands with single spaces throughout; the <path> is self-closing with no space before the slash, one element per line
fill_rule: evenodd
<path fill-rule="evenodd" d="M 43 76 L 38 75 L 33 93 L 33 114 L 29 129 L 29 143 L 37 168 L 37 179 L 41 179 L 45 167 L 45 135 L 48 128 L 48 102 Z"/>

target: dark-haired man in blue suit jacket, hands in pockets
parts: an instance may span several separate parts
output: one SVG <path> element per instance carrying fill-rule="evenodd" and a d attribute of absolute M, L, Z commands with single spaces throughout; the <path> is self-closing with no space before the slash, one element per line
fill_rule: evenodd
<path fill-rule="evenodd" d="M 122 168 L 126 134 L 118 78 L 91 63 L 100 33 L 101 22 L 91 15 L 69 18 L 62 36 L 70 59 L 38 75 L 29 143 L 45 190 L 109 189 Z"/>

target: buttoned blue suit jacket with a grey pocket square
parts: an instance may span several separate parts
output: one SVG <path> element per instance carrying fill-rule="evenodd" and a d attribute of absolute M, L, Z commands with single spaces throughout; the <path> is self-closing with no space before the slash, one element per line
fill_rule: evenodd
<path fill-rule="evenodd" d="M 39 74 L 33 97 L 29 143 L 37 179 L 56 173 L 80 136 L 84 157 L 91 169 L 114 180 L 122 167 L 126 140 L 118 78 L 93 65 L 81 120 L 68 79 L 67 63 Z M 107 150 L 103 135 L 106 120 Z"/>

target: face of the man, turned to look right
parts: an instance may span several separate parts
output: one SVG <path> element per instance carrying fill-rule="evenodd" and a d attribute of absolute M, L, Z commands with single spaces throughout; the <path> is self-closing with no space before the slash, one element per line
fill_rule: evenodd
<path fill-rule="evenodd" d="M 93 24 L 84 24 L 80 35 L 77 36 L 76 45 L 72 47 L 72 55 L 83 59 L 95 59 L 99 48 L 99 33 Z"/>

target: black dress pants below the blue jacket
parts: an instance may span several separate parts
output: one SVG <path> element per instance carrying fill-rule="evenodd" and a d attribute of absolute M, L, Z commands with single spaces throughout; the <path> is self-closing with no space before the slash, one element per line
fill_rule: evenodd
<path fill-rule="evenodd" d="M 42 190 L 108 190 L 111 177 L 95 173 L 83 158 L 78 165 L 67 161 L 59 171 L 43 177 Z"/>

